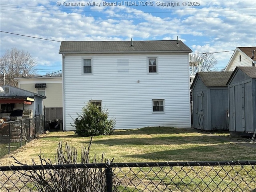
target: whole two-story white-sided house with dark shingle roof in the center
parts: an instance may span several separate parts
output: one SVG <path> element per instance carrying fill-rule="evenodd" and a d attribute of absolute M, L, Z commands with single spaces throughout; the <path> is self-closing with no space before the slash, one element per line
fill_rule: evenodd
<path fill-rule="evenodd" d="M 64 41 L 64 130 L 87 102 L 116 129 L 191 127 L 188 46 L 181 41 Z"/>

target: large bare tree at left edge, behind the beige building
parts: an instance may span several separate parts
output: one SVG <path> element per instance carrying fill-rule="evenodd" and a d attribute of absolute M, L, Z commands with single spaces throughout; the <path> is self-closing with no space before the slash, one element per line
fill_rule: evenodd
<path fill-rule="evenodd" d="M 17 48 L 7 49 L 0 58 L 0 77 L 1 85 L 5 84 L 11 86 L 18 86 L 18 82 L 14 80 L 15 77 L 35 76 L 36 60 L 32 58 L 29 52 L 19 50 Z"/>

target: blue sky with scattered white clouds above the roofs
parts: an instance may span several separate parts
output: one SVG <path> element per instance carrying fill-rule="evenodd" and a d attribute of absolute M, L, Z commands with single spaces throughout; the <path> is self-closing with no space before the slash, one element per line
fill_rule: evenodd
<path fill-rule="evenodd" d="M 42 75 L 62 68 L 58 41 L 177 36 L 193 52 L 214 52 L 220 70 L 236 47 L 256 46 L 256 1 L 1 0 L 0 28 L 1 55 L 12 47 L 28 51 Z"/>

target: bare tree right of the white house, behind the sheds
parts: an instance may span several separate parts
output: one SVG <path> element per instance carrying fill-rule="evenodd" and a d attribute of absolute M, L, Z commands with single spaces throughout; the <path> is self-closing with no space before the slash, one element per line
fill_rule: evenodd
<path fill-rule="evenodd" d="M 204 53 L 195 53 L 195 56 L 202 58 L 204 62 L 194 64 L 194 73 L 199 71 L 217 71 L 217 59 L 208 51 Z M 190 74 L 192 74 L 192 66 L 190 66 Z"/>

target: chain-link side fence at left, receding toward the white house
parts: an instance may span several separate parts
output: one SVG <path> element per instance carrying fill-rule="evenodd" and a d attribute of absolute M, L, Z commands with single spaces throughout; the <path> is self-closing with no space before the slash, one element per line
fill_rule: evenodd
<path fill-rule="evenodd" d="M 0 158 L 44 132 L 44 117 L 22 119 L 0 124 Z"/>

